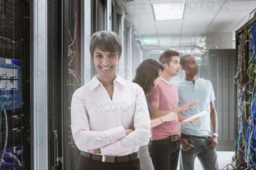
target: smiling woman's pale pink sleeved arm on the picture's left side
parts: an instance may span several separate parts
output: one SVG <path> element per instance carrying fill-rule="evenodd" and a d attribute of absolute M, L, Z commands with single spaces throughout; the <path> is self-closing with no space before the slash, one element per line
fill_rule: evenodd
<path fill-rule="evenodd" d="M 123 126 L 114 127 L 105 131 L 90 130 L 88 113 L 85 108 L 86 97 L 80 90 L 75 91 L 71 102 L 71 130 L 73 139 L 79 150 L 93 150 L 105 146 L 106 139 L 111 143 L 126 136 Z"/>

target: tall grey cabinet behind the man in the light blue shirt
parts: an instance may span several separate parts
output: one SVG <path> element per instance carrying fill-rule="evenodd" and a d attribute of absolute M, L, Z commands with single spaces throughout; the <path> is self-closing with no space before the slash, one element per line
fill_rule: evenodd
<path fill-rule="evenodd" d="M 201 57 L 200 76 L 212 82 L 218 118 L 216 150 L 234 151 L 236 128 L 235 49 L 212 49 Z"/>

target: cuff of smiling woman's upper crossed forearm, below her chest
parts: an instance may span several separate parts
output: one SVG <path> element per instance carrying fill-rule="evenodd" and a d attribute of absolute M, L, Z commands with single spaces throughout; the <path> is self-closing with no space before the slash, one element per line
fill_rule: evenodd
<path fill-rule="evenodd" d="M 111 139 L 111 143 L 126 136 L 125 128 L 123 126 L 114 127 L 109 130 L 103 131 L 105 138 Z"/>

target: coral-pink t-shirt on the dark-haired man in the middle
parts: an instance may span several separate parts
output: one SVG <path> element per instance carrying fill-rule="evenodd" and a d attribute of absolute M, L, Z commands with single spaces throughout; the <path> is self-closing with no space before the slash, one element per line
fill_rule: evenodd
<path fill-rule="evenodd" d="M 173 83 L 170 85 L 162 79 L 147 97 L 149 103 L 159 104 L 159 110 L 171 110 L 178 107 L 179 94 L 177 86 Z M 150 137 L 151 140 L 159 140 L 175 134 L 180 135 L 180 123 L 171 121 L 152 127 Z"/>

